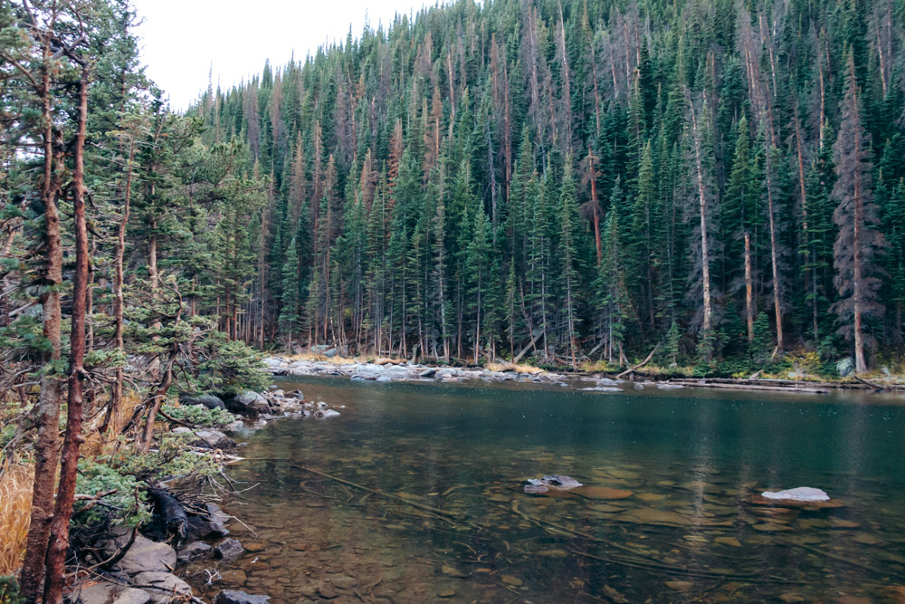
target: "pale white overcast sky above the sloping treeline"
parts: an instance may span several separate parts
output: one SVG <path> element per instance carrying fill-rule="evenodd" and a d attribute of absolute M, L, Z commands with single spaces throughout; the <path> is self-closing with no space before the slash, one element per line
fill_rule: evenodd
<path fill-rule="evenodd" d="M 349 24 L 358 37 L 367 22 L 389 24 L 426 0 L 133 0 L 144 19 L 138 34 L 148 76 L 185 109 L 207 87 L 228 88 L 275 65 L 314 53 L 326 41 L 344 41 Z"/>

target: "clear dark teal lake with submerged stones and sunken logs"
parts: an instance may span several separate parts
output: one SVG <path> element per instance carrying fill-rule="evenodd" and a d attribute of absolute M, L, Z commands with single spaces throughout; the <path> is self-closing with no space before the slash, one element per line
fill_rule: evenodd
<path fill-rule="evenodd" d="M 227 506 L 248 551 L 208 593 L 855 604 L 905 586 L 905 407 L 894 399 L 278 383 L 346 408 L 248 436 L 248 460 L 228 470 L 248 490 Z M 586 488 L 524 492 L 553 474 Z M 839 506 L 749 503 L 797 486 Z"/>

